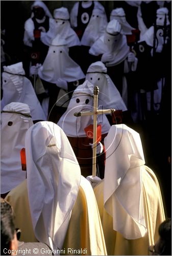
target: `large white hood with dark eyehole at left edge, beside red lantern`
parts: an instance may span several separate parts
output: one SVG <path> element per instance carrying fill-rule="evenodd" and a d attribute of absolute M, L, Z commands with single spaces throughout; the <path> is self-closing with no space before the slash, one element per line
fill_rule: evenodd
<path fill-rule="evenodd" d="M 11 102 L 1 114 L 1 194 L 26 179 L 21 168 L 20 151 L 24 146 L 26 132 L 33 125 L 29 106 Z"/>

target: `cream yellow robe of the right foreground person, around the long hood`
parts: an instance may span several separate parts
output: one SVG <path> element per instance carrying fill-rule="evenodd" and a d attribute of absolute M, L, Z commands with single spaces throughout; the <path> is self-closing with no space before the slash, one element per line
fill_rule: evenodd
<path fill-rule="evenodd" d="M 148 232 L 143 238 L 127 240 L 119 232 L 113 230 L 113 219 L 104 208 L 104 181 L 102 180 L 94 188 L 108 255 L 148 255 L 149 245 L 158 240 L 158 227 L 165 220 L 161 191 L 153 171 L 147 166 L 144 167 L 142 191 L 144 218 Z"/>

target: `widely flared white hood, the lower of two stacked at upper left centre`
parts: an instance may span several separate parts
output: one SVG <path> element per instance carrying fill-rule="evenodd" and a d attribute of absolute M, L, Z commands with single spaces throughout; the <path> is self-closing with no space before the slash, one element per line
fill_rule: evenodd
<path fill-rule="evenodd" d="M 38 75 L 51 83 L 57 83 L 59 78 L 67 82 L 85 78 L 80 66 L 69 57 L 66 40 L 60 36 L 53 39 Z"/>

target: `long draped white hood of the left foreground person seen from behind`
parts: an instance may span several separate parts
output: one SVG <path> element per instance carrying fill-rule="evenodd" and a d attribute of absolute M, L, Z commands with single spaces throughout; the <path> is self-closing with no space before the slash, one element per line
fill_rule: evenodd
<path fill-rule="evenodd" d="M 81 170 L 62 129 L 37 122 L 26 134 L 27 185 L 38 241 L 61 249 L 80 186 Z"/>

